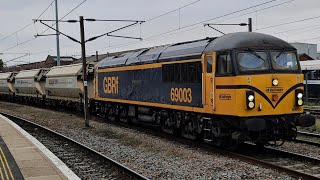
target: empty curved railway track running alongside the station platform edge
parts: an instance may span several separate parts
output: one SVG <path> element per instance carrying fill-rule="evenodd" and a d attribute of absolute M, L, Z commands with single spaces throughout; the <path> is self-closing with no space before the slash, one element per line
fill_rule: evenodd
<path fill-rule="evenodd" d="M 1 113 L 34 136 L 81 179 L 147 179 L 111 158 L 46 127 Z"/>

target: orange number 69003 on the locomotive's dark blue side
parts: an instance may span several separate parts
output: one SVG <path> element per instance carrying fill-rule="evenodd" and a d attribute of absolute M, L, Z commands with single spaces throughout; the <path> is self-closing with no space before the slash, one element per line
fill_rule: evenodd
<path fill-rule="evenodd" d="M 170 96 L 173 102 L 192 102 L 191 88 L 171 88 Z"/>

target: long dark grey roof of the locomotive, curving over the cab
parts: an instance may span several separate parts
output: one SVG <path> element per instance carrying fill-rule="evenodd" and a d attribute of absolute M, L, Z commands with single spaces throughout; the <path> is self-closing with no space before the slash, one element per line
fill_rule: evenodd
<path fill-rule="evenodd" d="M 261 33 L 237 32 L 221 37 L 205 38 L 195 41 L 156 46 L 126 52 L 120 56 L 102 59 L 96 67 L 108 68 L 156 62 L 179 61 L 201 58 L 202 53 L 242 48 L 295 49 L 289 43 Z"/>

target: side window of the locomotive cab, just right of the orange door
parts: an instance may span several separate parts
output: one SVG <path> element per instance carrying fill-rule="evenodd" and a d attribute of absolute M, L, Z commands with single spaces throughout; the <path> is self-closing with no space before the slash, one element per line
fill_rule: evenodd
<path fill-rule="evenodd" d="M 232 74 L 232 62 L 230 54 L 224 53 L 217 55 L 217 75 L 230 75 Z"/>

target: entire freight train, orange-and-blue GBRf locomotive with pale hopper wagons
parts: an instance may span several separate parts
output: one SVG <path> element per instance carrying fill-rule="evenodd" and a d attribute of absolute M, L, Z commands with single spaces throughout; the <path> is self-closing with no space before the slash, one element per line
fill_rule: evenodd
<path fill-rule="evenodd" d="M 0 74 L 2 99 L 82 110 L 81 65 Z M 296 49 L 276 37 L 230 33 L 127 51 L 89 64 L 91 114 L 149 124 L 216 146 L 281 145 L 303 115 Z"/>

